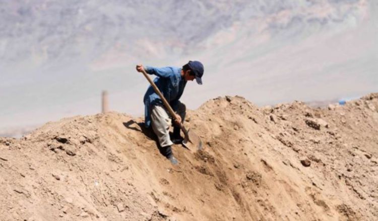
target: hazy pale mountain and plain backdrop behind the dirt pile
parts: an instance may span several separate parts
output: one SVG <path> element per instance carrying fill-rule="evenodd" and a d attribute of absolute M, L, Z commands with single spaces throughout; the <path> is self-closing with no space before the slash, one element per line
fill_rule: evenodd
<path fill-rule="evenodd" d="M 376 0 L 0 0 L 0 136 L 110 109 L 143 116 L 137 63 L 205 65 L 181 98 L 195 109 L 378 91 Z"/>

